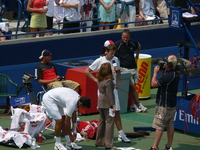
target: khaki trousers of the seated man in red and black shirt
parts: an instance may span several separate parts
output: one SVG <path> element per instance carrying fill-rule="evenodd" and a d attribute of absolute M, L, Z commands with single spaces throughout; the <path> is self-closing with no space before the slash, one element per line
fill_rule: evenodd
<path fill-rule="evenodd" d="M 72 80 L 63 80 L 63 81 L 55 81 L 48 84 L 47 89 L 53 89 L 56 87 L 68 87 L 72 90 L 75 90 L 78 86 L 80 86 L 79 83 L 72 81 Z"/>

